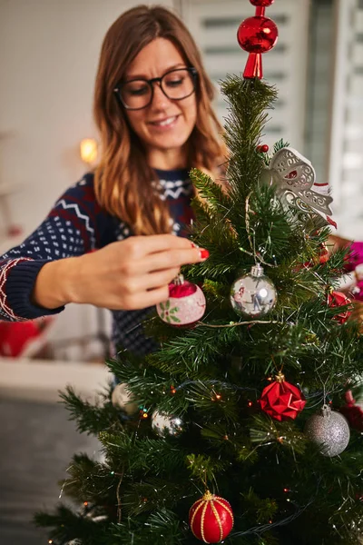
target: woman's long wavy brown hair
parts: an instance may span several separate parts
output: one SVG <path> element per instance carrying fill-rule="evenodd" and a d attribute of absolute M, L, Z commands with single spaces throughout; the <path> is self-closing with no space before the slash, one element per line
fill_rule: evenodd
<path fill-rule="evenodd" d="M 101 134 L 102 156 L 95 168 L 98 202 L 128 223 L 134 234 L 170 233 L 167 203 L 152 186 L 155 173 L 146 161 L 143 144 L 127 122 L 113 89 L 123 81 L 132 60 L 155 38 L 172 42 L 187 66 L 199 74 L 197 119 L 187 144 L 188 167 L 215 172 L 224 161 L 221 124 L 211 109 L 214 89 L 201 54 L 182 21 L 162 6 L 139 5 L 121 15 L 103 40 L 95 82 L 94 118 Z"/>

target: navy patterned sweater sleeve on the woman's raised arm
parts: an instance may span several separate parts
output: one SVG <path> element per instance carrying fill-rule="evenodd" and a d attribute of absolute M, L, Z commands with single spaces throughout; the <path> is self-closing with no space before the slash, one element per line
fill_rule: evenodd
<path fill-rule="evenodd" d="M 18 322 L 56 314 L 31 302 L 38 272 L 49 261 L 82 255 L 104 245 L 107 219 L 96 203 L 93 175 L 68 189 L 24 243 L 0 257 L 0 320 Z"/>

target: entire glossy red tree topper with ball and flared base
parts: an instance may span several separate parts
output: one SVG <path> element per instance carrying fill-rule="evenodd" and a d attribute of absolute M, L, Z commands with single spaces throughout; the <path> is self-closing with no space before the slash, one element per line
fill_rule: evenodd
<path fill-rule="evenodd" d="M 254 77 L 262 79 L 261 54 L 270 51 L 278 40 L 278 27 L 272 19 L 264 16 L 266 7 L 273 2 L 274 0 L 250 0 L 250 3 L 256 6 L 256 15 L 242 21 L 238 29 L 238 43 L 242 49 L 250 53 L 243 73 L 246 79 Z"/>

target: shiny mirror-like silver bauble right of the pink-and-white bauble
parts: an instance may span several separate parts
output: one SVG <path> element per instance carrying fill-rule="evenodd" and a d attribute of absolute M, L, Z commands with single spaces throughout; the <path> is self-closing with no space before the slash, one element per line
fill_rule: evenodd
<path fill-rule="evenodd" d="M 263 268 L 255 265 L 231 286 L 231 305 L 240 316 L 258 318 L 270 312 L 277 302 L 276 288 Z"/>

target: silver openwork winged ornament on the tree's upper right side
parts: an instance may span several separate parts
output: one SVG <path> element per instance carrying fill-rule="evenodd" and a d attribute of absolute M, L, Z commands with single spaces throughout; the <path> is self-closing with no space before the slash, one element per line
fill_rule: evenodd
<path fill-rule="evenodd" d="M 311 189 L 315 183 L 315 170 L 309 160 L 293 148 L 281 148 L 274 154 L 270 165 L 262 169 L 261 183 L 274 185 L 281 203 L 294 209 L 298 219 L 306 223 L 307 214 L 317 228 L 332 224 L 329 194 Z"/>

